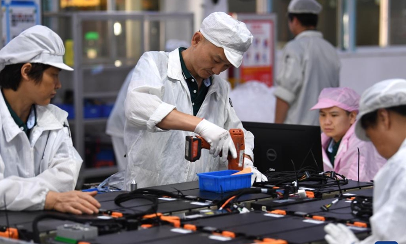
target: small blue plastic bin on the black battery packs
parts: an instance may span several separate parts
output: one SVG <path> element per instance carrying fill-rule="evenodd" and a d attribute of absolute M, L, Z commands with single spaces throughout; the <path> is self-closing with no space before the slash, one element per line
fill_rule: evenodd
<path fill-rule="evenodd" d="M 250 188 L 252 173 L 231 175 L 236 172 L 239 171 L 221 170 L 199 173 L 197 174 L 199 176 L 199 189 L 200 191 L 221 193 Z"/>

